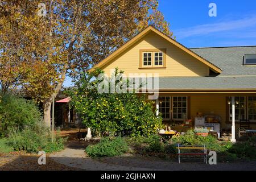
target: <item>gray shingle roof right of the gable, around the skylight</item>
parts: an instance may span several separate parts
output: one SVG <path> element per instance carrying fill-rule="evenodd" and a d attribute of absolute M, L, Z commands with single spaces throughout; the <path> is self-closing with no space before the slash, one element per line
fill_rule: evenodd
<path fill-rule="evenodd" d="M 217 67 L 216 77 L 160 77 L 160 89 L 255 89 L 256 66 L 243 65 L 243 56 L 256 54 L 256 46 L 191 48 Z"/>

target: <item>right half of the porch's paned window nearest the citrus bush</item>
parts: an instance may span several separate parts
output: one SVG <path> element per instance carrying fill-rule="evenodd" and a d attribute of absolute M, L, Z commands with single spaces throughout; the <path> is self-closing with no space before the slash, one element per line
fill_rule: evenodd
<path fill-rule="evenodd" d="M 172 97 L 173 119 L 187 118 L 187 97 Z"/>

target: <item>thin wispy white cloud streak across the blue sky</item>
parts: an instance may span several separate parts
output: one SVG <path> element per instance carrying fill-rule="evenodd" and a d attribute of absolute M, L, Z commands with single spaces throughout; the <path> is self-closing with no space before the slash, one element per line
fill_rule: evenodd
<path fill-rule="evenodd" d="M 245 18 L 241 18 L 238 20 L 222 20 L 218 23 L 212 24 L 202 24 L 195 27 L 181 28 L 179 30 L 174 30 L 174 34 L 177 39 L 184 39 L 191 36 L 197 35 L 212 35 L 216 33 L 223 33 L 225 31 L 238 31 L 238 30 L 247 30 L 248 28 L 256 28 L 256 15 L 247 16 Z M 250 35 L 246 35 L 245 32 L 239 31 L 238 34 L 243 34 L 240 36 L 249 37 Z M 253 33 L 250 31 L 250 33 Z M 255 35 L 253 36 L 255 37 Z"/>

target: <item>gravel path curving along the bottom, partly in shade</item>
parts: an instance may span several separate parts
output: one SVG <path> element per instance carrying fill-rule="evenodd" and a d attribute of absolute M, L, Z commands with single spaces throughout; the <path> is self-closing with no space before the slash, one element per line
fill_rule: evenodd
<path fill-rule="evenodd" d="M 74 148 L 69 145 L 65 150 L 51 154 L 55 162 L 72 168 L 84 170 L 106 171 L 144 171 L 144 170 L 171 170 L 171 171 L 243 171 L 256 170 L 256 162 L 217 163 L 217 165 L 204 164 L 203 161 L 181 162 L 162 160 L 154 157 L 124 155 L 109 158 L 91 159 L 86 157 L 84 147 Z"/>

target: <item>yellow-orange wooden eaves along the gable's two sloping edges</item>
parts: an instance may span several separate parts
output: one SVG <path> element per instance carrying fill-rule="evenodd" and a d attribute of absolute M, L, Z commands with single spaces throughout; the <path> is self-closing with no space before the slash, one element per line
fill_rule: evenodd
<path fill-rule="evenodd" d="M 156 34 L 158 34 L 159 36 L 161 36 L 162 38 L 164 38 L 168 42 L 174 44 L 175 46 L 179 47 L 180 49 L 183 49 L 183 51 L 187 52 L 189 55 L 195 57 L 197 60 L 201 61 L 202 63 L 204 63 L 206 65 L 208 65 L 208 67 L 212 68 L 212 70 L 214 72 L 221 73 L 221 69 L 219 67 L 217 67 L 213 63 L 210 63 L 208 60 L 204 59 L 203 57 L 197 55 L 197 53 L 193 52 L 191 49 L 188 49 L 187 47 L 183 46 L 182 44 L 180 44 L 176 40 L 170 38 L 169 36 L 167 36 L 163 32 L 157 30 L 153 26 L 148 26 L 147 28 L 145 28 L 139 34 L 134 36 L 134 38 L 130 39 L 128 42 L 123 44 L 123 46 L 121 46 L 116 51 L 114 51 L 112 54 L 110 54 L 108 57 L 106 57 L 104 60 L 102 60 L 100 63 L 94 65 L 93 68 L 89 69 L 89 72 L 93 71 L 94 68 L 104 67 L 104 65 L 110 63 L 110 61 L 112 61 L 114 59 L 114 57 L 117 57 L 119 54 L 124 52 L 127 48 L 133 46 L 135 43 L 137 43 L 139 40 L 141 40 L 144 36 L 146 36 L 149 32 L 155 32 Z"/>

